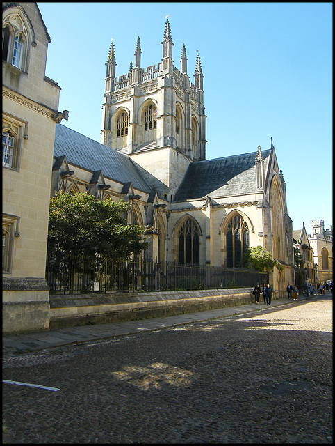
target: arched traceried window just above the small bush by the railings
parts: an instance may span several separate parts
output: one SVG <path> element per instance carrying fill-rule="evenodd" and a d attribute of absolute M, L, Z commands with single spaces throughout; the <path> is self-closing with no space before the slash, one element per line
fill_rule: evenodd
<path fill-rule="evenodd" d="M 249 230 L 247 222 L 240 215 L 231 217 L 227 224 L 226 248 L 227 268 L 238 268 L 242 264 L 242 256 L 249 247 Z"/>

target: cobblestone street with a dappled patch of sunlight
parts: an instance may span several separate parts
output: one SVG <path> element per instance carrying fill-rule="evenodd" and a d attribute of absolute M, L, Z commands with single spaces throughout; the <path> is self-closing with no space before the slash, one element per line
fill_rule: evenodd
<path fill-rule="evenodd" d="M 5 443 L 332 443 L 332 295 L 5 355 Z"/>

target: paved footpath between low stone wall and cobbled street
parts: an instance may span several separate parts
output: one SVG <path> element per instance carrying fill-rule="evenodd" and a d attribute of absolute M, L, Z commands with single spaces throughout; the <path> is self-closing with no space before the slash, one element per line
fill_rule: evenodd
<path fill-rule="evenodd" d="M 330 293 L 327 293 L 329 295 Z M 316 296 L 315 296 L 316 297 Z M 108 339 L 115 336 L 124 336 L 145 331 L 161 330 L 162 328 L 175 327 L 209 319 L 236 316 L 250 312 L 261 312 L 263 310 L 280 307 L 281 305 L 297 304 L 303 300 L 311 300 L 313 296 L 299 295 L 297 302 L 288 298 L 272 300 L 271 305 L 264 305 L 263 299 L 259 304 L 250 303 L 234 307 L 205 310 L 203 312 L 177 314 L 163 318 L 142 319 L 139 321 L 125 321 L 113 323 L 101 323 L 97 325 L 81 325 L 76 327 L 59 328 L 58 330 L 47 330 L 28 334 L 6 334 L 3 335 L 2 352 L 6 354 L 26 353 L 28 351 L 39 351 L 44 348 L 53 348 L 70 344 L 82 344 L 99 339 Z"/>

